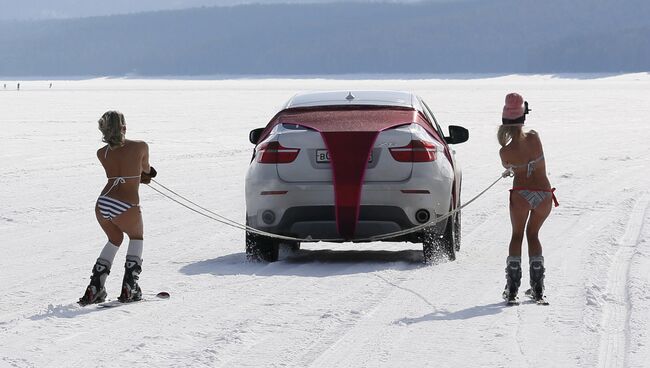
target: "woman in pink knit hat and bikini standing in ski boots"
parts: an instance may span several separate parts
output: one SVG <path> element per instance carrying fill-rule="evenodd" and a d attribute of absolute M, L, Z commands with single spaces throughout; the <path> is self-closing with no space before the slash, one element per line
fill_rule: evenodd
<path fill-rule="evenodd" d="M 506 173 L 514 175 L 510 190 L 510 221 L 512 238 L 506 260 L 506 288 L 503 298 L 516 302 L 521 284 L 521 245 L 526 235 L 530 267 L 530 296 L 538 302 L 544 298 L 544 257 L 539 241 L 539 229 L 551 212 L 552 202 L 557 206 L 555 188 L 546 176 L 544 150 L 539 134 L 524 132 L 528 102 L 517 93 L 506 96 L 502 125 L 497 138 L 499 155 Z M 506 174 L 504 173 L 504 175 Z"/>

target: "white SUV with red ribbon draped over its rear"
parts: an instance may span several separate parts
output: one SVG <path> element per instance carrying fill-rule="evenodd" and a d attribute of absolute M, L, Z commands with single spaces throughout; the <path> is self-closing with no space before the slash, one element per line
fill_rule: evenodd
<path fill-rule="evenodd" d="M 268 233 L 333 242 L 368 241 L 445 215 L 460 205 L 461 170 L 427 104 L 399 91 L 298 94 L 265 128 L 246 175 L 246 223 Z M 423 243 L 424 259 L 460 249 L 460 212 L 421 231 L 382 239 Z M 287 242 L 247 232 L 250 259 L 276 261 Z M 288 241 L 294 249 L 298 241 Z"/>

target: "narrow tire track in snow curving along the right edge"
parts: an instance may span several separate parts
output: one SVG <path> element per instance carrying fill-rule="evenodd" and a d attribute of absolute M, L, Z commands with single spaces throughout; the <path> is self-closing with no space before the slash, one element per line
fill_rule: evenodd
<path fill-rule="evenodd" d="M 647 194 L 634 205 L 608 272 L 598 367 L 625 367 L 627 361 L 630 336 L 630 297 L 627 284 L 630 263 L 643 230 L 643 220 L 649 205 L 650 196 Z"/>

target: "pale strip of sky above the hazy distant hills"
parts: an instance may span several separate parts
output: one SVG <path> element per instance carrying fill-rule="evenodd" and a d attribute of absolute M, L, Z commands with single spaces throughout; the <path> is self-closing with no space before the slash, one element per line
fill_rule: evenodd
<path fill-rule="evenodd" d="M 340 1 L 340 0 L 339 0 Z M 376 0 L 356 0 L 373 2 Z M 386 2 L 409 3 L 417 0 Z M 426 0 L 429 2 L 459 2 L 468 0 Z M 111 15 L 143 11 L 184 9 L 201 6 L 231 6 L 249 3 L 324 3 L 336 0 L 0 0 L 0 20 L 76 18 L 94 15 Z M 343 1 L 340 1 L 343 2 Z"/>

